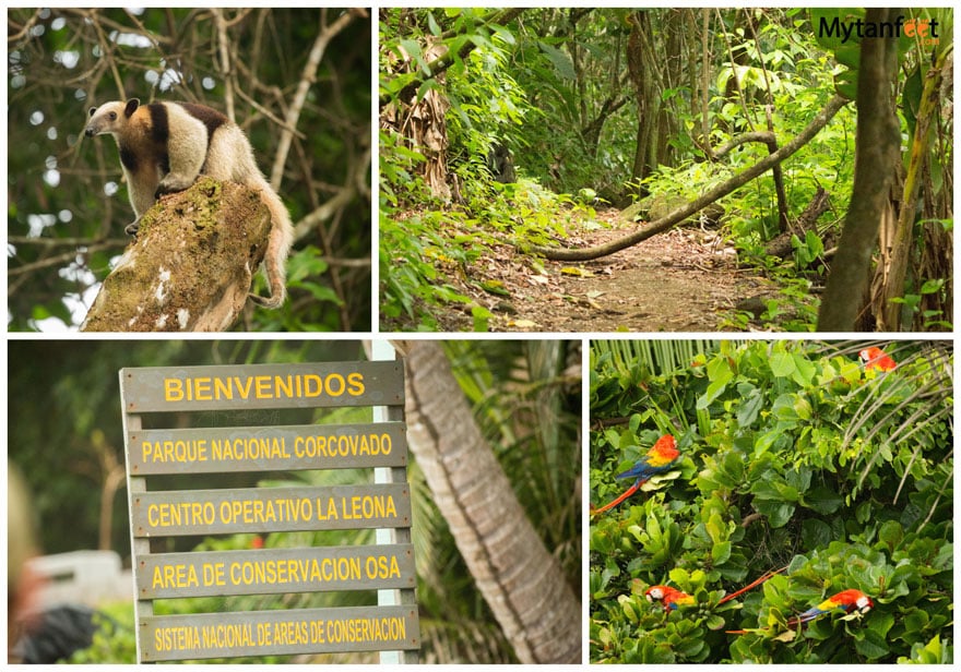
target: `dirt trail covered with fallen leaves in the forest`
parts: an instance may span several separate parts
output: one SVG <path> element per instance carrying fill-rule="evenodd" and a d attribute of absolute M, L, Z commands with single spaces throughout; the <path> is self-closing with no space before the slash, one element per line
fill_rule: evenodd
<path fill-rule="evenodd" d="M 616 213 L 598 213 L 598 219 Z M 600 244 L 626 230 L 580 231 L 568 244 Z M 448 281 L 495 314 L 491 332 L 740 331 L 725 325 L 723 313 L 749 297 L 774 295 L 769 280 L 736 267 L 734 251 L 716 233 L 692 227 L 593 262 L 543 262 L 543 271 L 505 245 L 466 269 L 466 278 Z M 485 291 L 485 283 L 508 295 Z M 442 328 L 470 331 L 472 325 L 464 308 L 447 315 Z"/>

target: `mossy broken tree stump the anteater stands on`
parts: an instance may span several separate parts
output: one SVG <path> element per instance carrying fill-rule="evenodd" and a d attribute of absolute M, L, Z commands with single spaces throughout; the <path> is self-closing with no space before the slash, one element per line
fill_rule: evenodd
<path fill-rule="evenodd" d="M 104 280 L 84 332 L 223 332 L 247 303 L 271 217 L 257 192 L 201 178 L 162 199 Z"/>

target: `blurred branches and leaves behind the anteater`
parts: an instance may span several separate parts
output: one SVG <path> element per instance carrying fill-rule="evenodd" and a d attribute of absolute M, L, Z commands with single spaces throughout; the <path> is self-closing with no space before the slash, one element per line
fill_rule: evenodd
<path fill-rule="evenodd" d="M 81 137 L 88 108 L 128 98 L 234 119 L 290 212 L 290 299 L 250 311 L 246 329 L 369 328 L 366 12 L 60 8 L 8 19 L 10 329 L 75 328 L 130 242 L 117 147 Z"/>

